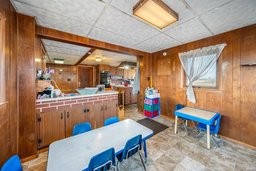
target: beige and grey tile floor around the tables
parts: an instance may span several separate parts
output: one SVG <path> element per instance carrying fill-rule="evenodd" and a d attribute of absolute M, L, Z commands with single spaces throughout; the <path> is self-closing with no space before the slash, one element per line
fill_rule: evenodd
<path fill-rule="evenodd" d="M 138 113 L 136 105 L 127 105 L 124 110 L 125 119 L 137 121 L 144 116 Z M 164 117 L 156 117 L 155 121 L 169 126 L 168 129 L 149 138 L 147 143 L 147 171 L 244 171 L 255 170 L 256 151 L 232 143 L 224 139 L 216 139 L 220 148 L 211 139 L 211 149 L 206 149 L 206 133 L 197 139 L 195 129 L 188 127 L 190 136 L 186 135 L 184 126 L 178 124 L 178 132 L 174 134 L 174 121 Z M 142 155 L 144 153 L 142 150 Z M 40 153 L 37 159 L 22 163 L 24 171 L 44 171 L 47 164 L 47 152 Z M 139 155 L 124 160 L 120 164 L 123 171 L 143 171 Z"/>

